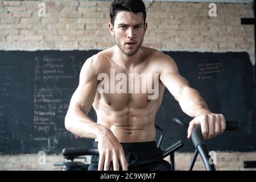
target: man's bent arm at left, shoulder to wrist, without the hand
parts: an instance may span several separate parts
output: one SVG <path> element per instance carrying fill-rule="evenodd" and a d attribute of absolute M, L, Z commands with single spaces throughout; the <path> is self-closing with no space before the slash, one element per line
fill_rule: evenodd
<path fill-rule="evenodd" d="M 65 116 L 65 127 L 82 138 L 99 138 L 101 125 L 88 117 L 97 89 L 97 77 L 93 73 L 93 59 L 86 60 L 80 72 L 79 86 L 73 93 Z"/>

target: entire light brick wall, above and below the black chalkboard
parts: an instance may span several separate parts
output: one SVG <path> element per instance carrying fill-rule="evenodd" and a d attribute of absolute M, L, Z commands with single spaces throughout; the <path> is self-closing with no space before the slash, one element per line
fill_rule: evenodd
<path fill-rule="evenodd" d="M 110 1 L 42 1 L 46 17 L 38 16 L 39 1 L 0 1 L 0 50 L 105 49 L 114 45 L 108 30 Z M 253 6 L 217 3 L 217 17 L 208 16 L 208 3 L 146 1 L 148 30 L 144 46 L 163 51 L 246 51 L 255 64 L 253 26 L 240 18 L 253 17 Z M 176 155 L 176 168 L 187 169 L 192 154 Z M 1 169 L 59 169 L 60 155 L 0 155 Z M 243 170 L 255 153 L 218 153 L 217 169 Z M 203 164 L 196 163 L 196 169 Z M 255 168 L 254 168 L 255 169 Z"/>

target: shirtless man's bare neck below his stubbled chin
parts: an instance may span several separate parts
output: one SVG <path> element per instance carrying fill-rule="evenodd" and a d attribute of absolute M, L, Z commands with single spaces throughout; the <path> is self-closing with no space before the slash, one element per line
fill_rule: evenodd
<path fill-rule="evenodd" d="M 128 56 L 125 55 L 117 45 L 114 46 L 114 60 L 117 64 L 121 65 L 121 67 L 129 70 L 135 67 L 138 63 L 142 61 L 142 47 L 138 49 L 135 55 Z"/>

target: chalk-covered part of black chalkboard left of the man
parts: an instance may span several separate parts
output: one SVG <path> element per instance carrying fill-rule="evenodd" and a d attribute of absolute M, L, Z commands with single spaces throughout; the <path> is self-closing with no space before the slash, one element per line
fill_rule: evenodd
<path fill-rule="evenodd" d="M 85 60 L 98 51 L 0 52 L 0 152 L 60 152 L 90 146 L 64 117 Z M 91 118 L 96 118 L 92 111 Z"/>

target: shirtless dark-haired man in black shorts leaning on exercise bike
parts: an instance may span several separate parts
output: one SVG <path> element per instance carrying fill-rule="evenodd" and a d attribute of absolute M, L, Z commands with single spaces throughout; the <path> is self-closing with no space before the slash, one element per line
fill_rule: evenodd
<path fill-rule="evenodd" d="M 73 134 L 96 139 L 100 156 L 93 156 L 90 170 L 169 170 L 170 164 L 163 160 L 162 151 L 155 143 L 155 115 L 161 105 L 164 88 L 179 102 L 184 113 L 194 119 L 189 123 L 188 138 L 196 125 L 201 125 L 204 139 L 221 134 L 226 127 L 222 114 L 214 114 L 197 90 L 179 75 L 175 61 L 156 49 L 143 47 L 147 30 L 146 11 L 141 0 L 115 0 L 110 6 L 110 34 L 116 45 L 86 60 L 81 68 L 80 82 L 71 98 L 65 116 L 65 127 Z M 148 99 L 146 93 L 99 92 L 105 79 L 122 73 L 146 73 L 159 75 L 158 97 Z M 150 84 L 150 79 L 142 82 Z M 106 80 L 105 80 L 106 81 Z M 114 86 L 118 81 L 114 82 Z M 105 85 L 106 86 L 106 85 Z M 111 84 L 109 84 L 111 86 Z M 129 89 L 127 80 L 127 89 Z M 137 85 L 138 86 L 138 85 Z M 139 85 L 139 86 L 142 86 Z M 92 107 L 97 113 L 97 123 L 88 117 Z"/>

